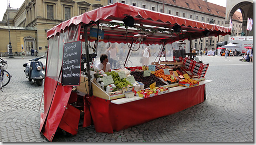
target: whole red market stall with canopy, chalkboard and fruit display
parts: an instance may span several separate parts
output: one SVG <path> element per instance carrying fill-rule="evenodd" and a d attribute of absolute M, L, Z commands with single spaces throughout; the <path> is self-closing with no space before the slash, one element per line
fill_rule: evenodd
<path fill-rule="evenodd" d="M 80 112 L 84 112 L 83 127 L 93 124 L 97 132 L 112 133 L 205 99 L 205 84 L 210 82 L 204 77 L 208 64 L 180 57 L 159 59 L 147 67 L 101 72 L 91 66 L 100 55 L 99 42 L 129 44 L 125 66 L 134 49 L 143 44 L 159 44 L 164 51 L 165 44 L 179 40 L 189 39 L 191 43 L 196 38 L 228 34 L 231 29 L 227 27 L 122 3 L 94 9 L 53 27 L 47 31 L 40 131 L 50 141 L 57 128 L 75 135 Z M 94 46 L 88 42 L 95 42 Z M 135 44 L 139 48 L 134 48 Z M 188 53 L 191 51 L 190 47 Z"/>

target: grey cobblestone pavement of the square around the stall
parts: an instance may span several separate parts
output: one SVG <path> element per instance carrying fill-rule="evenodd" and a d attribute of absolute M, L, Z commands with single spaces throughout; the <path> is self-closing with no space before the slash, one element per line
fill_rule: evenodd
<path fill-rule="evenodd" d="M 40 134 L 40 101 L 44 85 L 30 84 L 23 63 L 5 58 L 11 82 L 0 91 L 0 141 L 48 142 Z M 202 56 L 209 63 L 206 100 L 173 115 L 114 133 L 78 127 L 76 136 L 56 133 L 54 142 L 253 142 L 253 63 L 241 57 Z M 42 59 L 45 64 L 45 58 Z"/>

